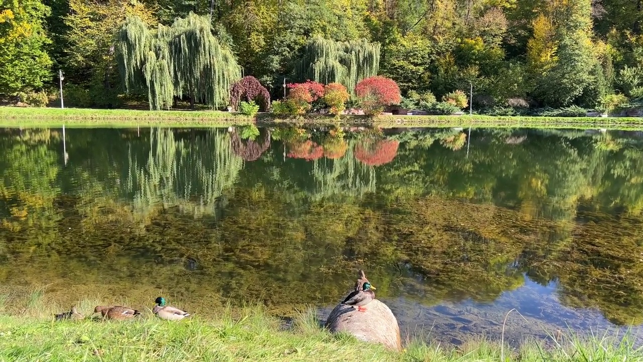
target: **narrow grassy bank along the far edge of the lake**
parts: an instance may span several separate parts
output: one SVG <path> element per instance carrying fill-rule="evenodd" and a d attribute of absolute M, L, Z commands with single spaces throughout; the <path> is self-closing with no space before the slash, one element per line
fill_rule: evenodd
<path fill-rule="evenodd" d="M 253 117 L 222 111 L 141 111 L 93 110 L 82 108 L 17 108 L 0 107 L 2 127 L 136 127 L 136 126 L 234 126 L 254 122 Z M 276 118 L 269 113 L 257 115 L 257 124 L 300 124 L 392 127 L 500 127 L 500 128 L 607 128 L 643 129 L 643 118 L 636 117 L 491 117 L 381 115 L 365 117 L 347 115 L 339 120 L 329 115 Z"/>

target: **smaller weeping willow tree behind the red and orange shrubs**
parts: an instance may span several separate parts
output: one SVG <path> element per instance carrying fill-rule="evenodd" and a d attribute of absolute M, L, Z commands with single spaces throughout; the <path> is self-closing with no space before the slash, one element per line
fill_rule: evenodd
<path fill-rule="evenodd" d="M 336 42 L 314 37 L 303 50 L 296 67 L 297 77 L 300 81 L 341 83 L 354 95 L 359 81 L 377 75 L 379 50 L 379 44 L 365 39 Z"/>

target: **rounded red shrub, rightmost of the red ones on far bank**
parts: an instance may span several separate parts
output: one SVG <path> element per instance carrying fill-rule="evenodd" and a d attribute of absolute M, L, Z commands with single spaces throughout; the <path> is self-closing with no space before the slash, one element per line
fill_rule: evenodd
<path fill-rule="evenodd" d="M 376 115 L 386 106 L 399 104 L 401 100 L 400 88 L 394 80 L 380 77 L 370 77 L 359 81 L 355 86 L 355 93 L 359 102 L 368 115 Z"/>

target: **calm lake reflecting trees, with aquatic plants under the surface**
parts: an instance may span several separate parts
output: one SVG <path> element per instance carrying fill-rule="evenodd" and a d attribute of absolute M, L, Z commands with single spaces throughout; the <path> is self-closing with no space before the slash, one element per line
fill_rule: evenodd
<path fill-rule="evenodd" d="M 0 291 L 320 318 L 359 269 L 403 334 L 643 323 L 643 133 L 0 131 Z"/>

